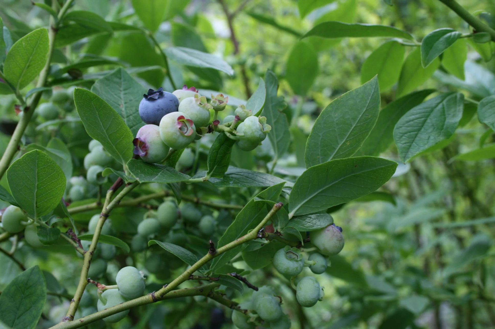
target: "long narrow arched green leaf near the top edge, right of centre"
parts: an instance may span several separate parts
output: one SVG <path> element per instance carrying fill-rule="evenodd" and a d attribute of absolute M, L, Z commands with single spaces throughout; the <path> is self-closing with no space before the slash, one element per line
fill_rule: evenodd
<path fill-rule="evenodd" d="M 407 32 L 387 25 L 343 23 L 343 22 L 323 22 L 309 30 L 302 38 L 317 36 L 322 38 L 402 38 L 414 40 Z"/>

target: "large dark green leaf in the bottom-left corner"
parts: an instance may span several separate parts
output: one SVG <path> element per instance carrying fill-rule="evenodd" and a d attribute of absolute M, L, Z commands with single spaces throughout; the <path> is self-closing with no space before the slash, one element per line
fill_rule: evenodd
<path fill-rule="evenodd" d="M 0 295 L 0 321 L 12 329 L 34 329 L 47 300 L 47 282 L 38 265 L 19 274 Z"/>

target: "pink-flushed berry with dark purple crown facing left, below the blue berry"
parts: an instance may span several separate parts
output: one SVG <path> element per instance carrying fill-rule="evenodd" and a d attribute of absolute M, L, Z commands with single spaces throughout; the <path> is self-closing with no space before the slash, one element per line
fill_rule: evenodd
<path fill-rule="evenodd" d="M 145 125 L 141 127 L 132 141 L 134 154 L 139 155 L 141 160 L 148 163 L 160 163 L 167 157 L 170 147 L 160 138 L 160 127 L 156 125 Z"/>

